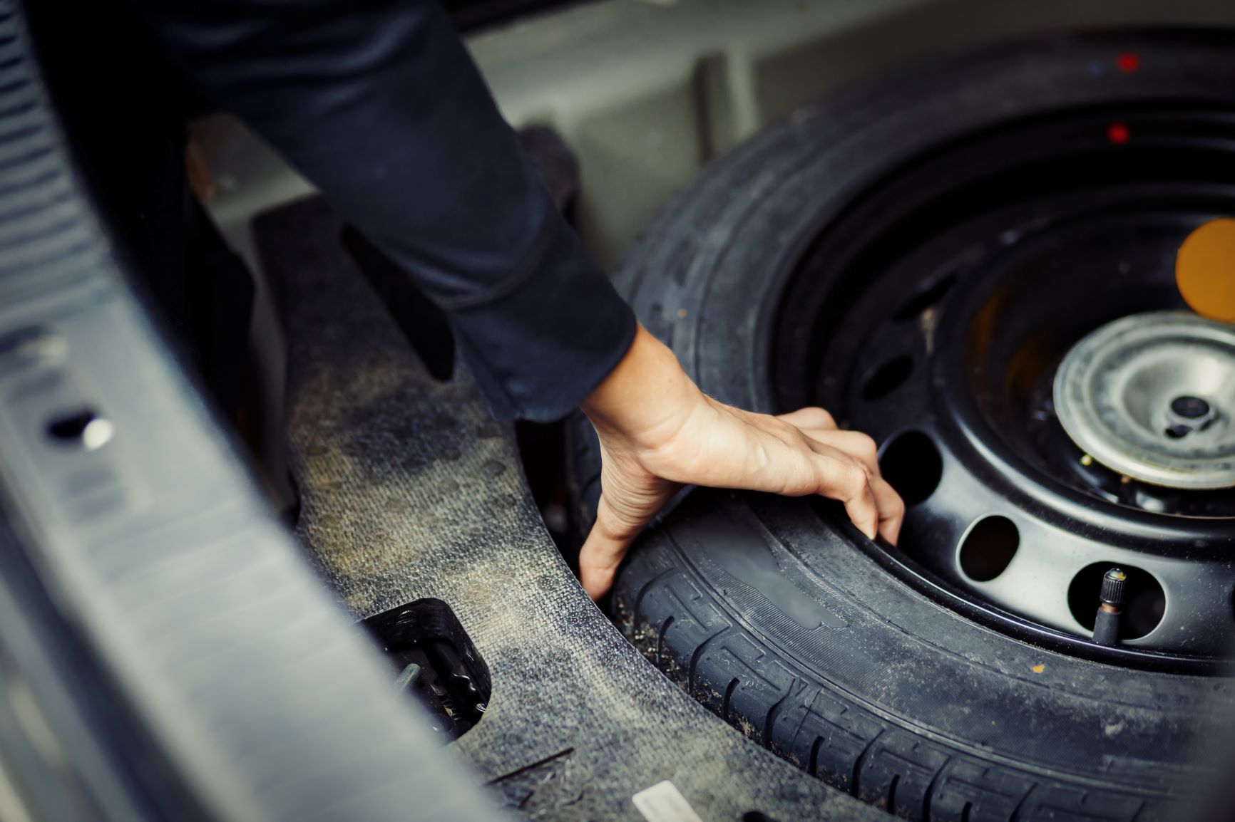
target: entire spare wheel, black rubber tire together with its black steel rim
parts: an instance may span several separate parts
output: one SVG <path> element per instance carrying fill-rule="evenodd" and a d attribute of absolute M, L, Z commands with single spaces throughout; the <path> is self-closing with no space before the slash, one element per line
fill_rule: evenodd
<path fill-rule="evenodd" d="M 680 195 L 618 274 L 643 323 L 724 401 L 823 405 L 874 436 L 910 509 L 892 548 L 826 501 L 697 491 L 619 578 L 632 642 L 908 818 L 1186 801 L 1231 696 L 1235 497 L 1104 467 L 1055 378 L 1110 323 L 1187 316 L 1174 252 L 1235 214 L 1233 77 L 1226 35 L 1002 46 L 810 106 Z M 1177 376 L 1157 388 L 1191 396 Z M 1166 405 L 1146 420 L 1170 439 Z M 587 509 L 599 462 L 577 434 Z M 1114 567 L 1124 613 L 1099 644 Z"/>

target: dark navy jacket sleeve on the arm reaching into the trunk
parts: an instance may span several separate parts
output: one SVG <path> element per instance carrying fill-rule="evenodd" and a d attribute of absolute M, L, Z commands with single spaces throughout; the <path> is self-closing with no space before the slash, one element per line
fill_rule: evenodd
<path fill-rule="evenodd" d="M 553 420 L 635 317 L 426 0 L 136 0 L 172 59 L 450 316 L 504 417 Z"/>

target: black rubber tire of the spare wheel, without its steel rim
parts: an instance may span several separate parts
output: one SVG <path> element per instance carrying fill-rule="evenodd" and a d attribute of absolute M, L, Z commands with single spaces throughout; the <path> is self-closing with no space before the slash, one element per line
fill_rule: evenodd
<path fill-rule="evenodd" d="M 710 168 L 641 238 L 619 289 L 705 391 L 787 410 L 764 367 L 778 300 L 794 260 L 863 186 L 1015 117 L 1230 105 L 1233 42 L 1055 37 L 866 83 Z M 1089 70 L 1125 52 L 1137 70 Z M 579 507 L 594 512 L 585 421 L 571 453 Z M 803 500 L 693 492 L 636 546 L 614 612 L 748 737 L 913 820 L 1163 818 L 1198 790 L 1198 741 L 1231 697 L 1225 679 L 1088 662 L 982 627 L 888 574 L 836 510 Z"/>

